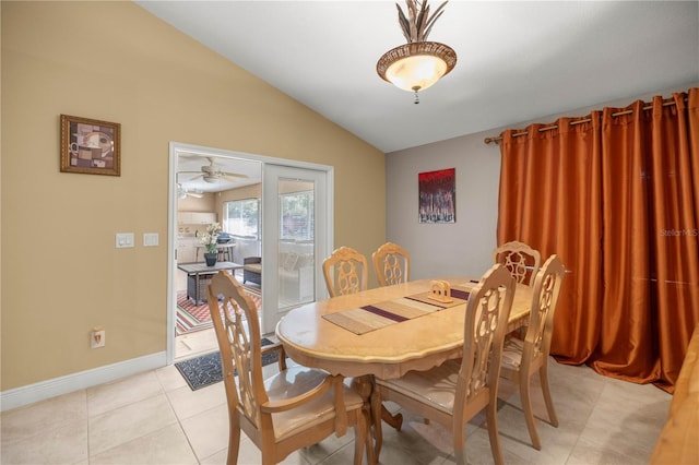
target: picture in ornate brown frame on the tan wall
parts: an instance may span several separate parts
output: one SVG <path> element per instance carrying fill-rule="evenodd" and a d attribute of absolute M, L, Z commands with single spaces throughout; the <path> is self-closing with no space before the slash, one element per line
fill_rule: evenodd
<path fill-rule="evenodd" d="M 61 115 L 61 171 L 121 176 L 121 124 Z"/>

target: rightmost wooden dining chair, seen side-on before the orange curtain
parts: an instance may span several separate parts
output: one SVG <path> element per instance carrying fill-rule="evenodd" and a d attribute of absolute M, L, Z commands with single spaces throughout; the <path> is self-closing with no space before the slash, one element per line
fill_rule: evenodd
<path fill-rule="evenodd" d="M 553 426 L 558 427 L 558 418 L 548 388 L 548 354 L 554 330 L 554 313 L 564 273 L 565 267 L 558 255 L 550 255 L 534 279 L 532 306 L 524 339 L 509 337 L 502 349 L 500 377 L 519 385 L 526 429 L 536 450 L 542 449 L 534 424 L 531 397 L 531 379 L 536 372 L 538 372 L 548 419 Z"/>

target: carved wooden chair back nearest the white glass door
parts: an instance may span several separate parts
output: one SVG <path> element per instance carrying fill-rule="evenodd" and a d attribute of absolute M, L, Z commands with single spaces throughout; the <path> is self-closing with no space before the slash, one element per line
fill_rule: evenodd
<path fill-rule="evenodd" d="M 340 247 L 323 260 L 323 276 L 330 297 L 367 289 L 367 259 L 351 247 Z"/>

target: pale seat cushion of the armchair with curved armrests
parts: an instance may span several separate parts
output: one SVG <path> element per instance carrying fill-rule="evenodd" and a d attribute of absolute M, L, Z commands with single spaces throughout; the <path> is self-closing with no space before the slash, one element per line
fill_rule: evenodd
<path fill-rule="evenodd" d="M 325 371 L 294 366 L 266 379 L 264 388 L 270 401 L 285 400 L 308 392 L 321 384 L 327 377 Z M 344 401 L 347 410 L 362 408 L 364 405 L 359 394 L 346 385 L 344 385 Z M 313 428 L 334 416 L 333 390 L 331 389 L 301 407 L 273 414 L 274 438 L 276 441 L 281 441 L 291 433 L 296 434 L 299 430 Z"/>

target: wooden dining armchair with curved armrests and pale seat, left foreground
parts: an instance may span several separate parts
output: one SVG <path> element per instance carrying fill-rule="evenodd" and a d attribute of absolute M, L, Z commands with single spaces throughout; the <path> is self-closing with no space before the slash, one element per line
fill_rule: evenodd
<path fill-rule="evenodd" d="M 354 427 L 354 463 L 362 464 L 369 406 L 342 377 L 287 367 L 281 344 L 262 347 L 257 309 L 242 286 L 220 272 L 208 288 L 228 403 L 229 465 L 238 461 L 240 430 L 260 449 L 263 464 Z M 247 327 L 247 329 L 246 329 Z M 262 378 L 262 355 L 276 351 L 279 373 Z M 237 381 L 236 381 L 237 378 Z"/>

